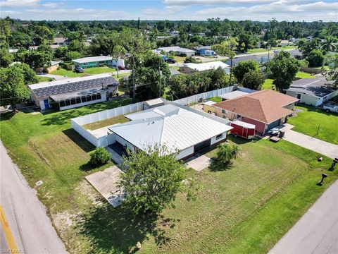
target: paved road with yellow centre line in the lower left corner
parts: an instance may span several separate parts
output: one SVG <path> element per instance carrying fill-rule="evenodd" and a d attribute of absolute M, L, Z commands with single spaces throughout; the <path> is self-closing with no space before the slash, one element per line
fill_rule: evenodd
<path fill-rule="evenodd" d="M 11 162 L 1 142 L 0 153 L 1 253 L 13 246 L 18 248 L 18 253 L 67 253 L 44 206 Z M 7 237 L 4 238 L 4 234 Z M 13 237 L 8 239 L 8 236 Z"/>

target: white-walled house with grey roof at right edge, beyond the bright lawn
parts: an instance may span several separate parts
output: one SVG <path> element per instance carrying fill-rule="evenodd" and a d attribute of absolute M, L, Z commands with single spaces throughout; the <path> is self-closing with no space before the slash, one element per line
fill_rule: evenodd
<path fill-rule="evenodd" d="M 338 89 L 332 83 L 324 78 L 301 78 L 295 80 L 285 92 L 301 103 L 318 107 L 338 95 Z"/>

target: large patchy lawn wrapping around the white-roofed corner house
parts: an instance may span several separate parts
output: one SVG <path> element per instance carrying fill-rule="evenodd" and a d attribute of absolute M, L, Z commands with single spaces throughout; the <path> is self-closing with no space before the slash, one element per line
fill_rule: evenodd
<path fill-rule="evenodd" d="M 18 113 L 1 118 L 1 140 L 31 186 L 36 187 L 70 253 L 266 253 L 337 179 L 330 162 L 287 141 L 247 142 L 227 169 L 187 170 L 199 191 L 184 195 L 159 217 L 114 209 L 84 181 L 104 167 L 88 164 L 94 147 L 70 129 L 69 119 L 128 104 L 130 99 L 49 114 Z M 18 135 L 20 133 L 20 135 Z M 215 150 L 206 154 L 215 155 Z M 320 174 L 328 174 L 322 187 Z M 272 230 L 273 229 L 273 230 Z"/>

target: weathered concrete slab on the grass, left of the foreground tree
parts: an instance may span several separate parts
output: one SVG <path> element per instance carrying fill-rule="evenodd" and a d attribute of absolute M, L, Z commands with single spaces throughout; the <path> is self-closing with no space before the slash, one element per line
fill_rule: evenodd
<path fill-rule="evenodd" d="M 123 191 L 117 186 L 118 176 L 120 174 L 123 174 L 123 171 L 118 167 L 113 166 L 108 167 L 108 169 L 105 169 L 104 171 L 90 174 L 85 178 L 94 188 L 96 188 L 96 191 L 99 191 L 99 193 L 113 205 L 113 207 L 117 207 L 123 200 Z"/>

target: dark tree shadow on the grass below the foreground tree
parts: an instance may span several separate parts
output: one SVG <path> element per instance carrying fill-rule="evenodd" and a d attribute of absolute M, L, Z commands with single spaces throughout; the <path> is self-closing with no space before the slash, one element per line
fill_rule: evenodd
<path fill-rule="evenodd" d="M 163 226 L 175 226 L 173 219 L 161 215 L 134 217 L 127 207 L 113 208 L 108 203 L 93 207 L 77 219 L 76 228 L 89 239 L 95 253 L 134 253 L 137 242 L 143 243 L 149 235 L 162 246 L 170 241 Z"/>

